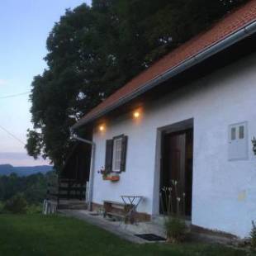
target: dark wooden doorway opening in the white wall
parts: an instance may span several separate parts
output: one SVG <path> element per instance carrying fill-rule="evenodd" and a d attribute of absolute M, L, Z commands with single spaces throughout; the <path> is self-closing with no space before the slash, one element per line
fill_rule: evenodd
<path fill-rule="evenodd" d="M 163 130 L 161 139 L 160 213 L 192 215 L 193 129 Z M 167 203 L 166 197 L 169 198 Z M 172 209 L 170 209 L 172 208 Z"/>

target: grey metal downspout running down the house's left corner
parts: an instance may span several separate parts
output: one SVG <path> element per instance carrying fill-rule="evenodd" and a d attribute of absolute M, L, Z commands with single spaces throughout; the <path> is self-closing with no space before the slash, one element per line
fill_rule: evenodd
<path fill-rule="evenodd" d="M 72 128 L 70 128 L 70 137 L 73 140 L 81 141 L 85 144 L 92 146 L 91 152 L 91 163 L 90 163 L 90 173 L 89 173 L 89 188 L 88 188 L 88 210 L 92 211 L 92 192 L 93 192 L 93 168 L 94 168 L 94 155 L 95 155 L 95 143 L 91 140 L 86 140 L 78 135 L 76 135 Z"/>

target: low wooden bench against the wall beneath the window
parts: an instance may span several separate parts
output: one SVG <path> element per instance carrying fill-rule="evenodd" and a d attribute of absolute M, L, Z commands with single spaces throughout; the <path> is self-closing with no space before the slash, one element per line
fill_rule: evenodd
<path fill-rule="evenodd" d="M 125 219 L 130 206 L 120 201 L 103 201 L 104 217 L 111 216 L 116 219 Z"/>

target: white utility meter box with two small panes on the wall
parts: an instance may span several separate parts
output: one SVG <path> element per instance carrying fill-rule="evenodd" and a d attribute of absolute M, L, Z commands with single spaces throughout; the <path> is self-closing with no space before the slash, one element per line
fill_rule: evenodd
<path fill-rule="evenodd" d="M 248 159 L 247 122 L 229 126 L 229 160 Z"/>

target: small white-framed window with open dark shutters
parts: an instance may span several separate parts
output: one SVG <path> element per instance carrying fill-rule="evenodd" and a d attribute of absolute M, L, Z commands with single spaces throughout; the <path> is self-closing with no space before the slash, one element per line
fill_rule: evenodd
<path fill-rule="evenodd" d="M 126 149 L 128 137 L 120 135 L 106 141 L 105 168 L 120 173 L 126 170 Z"/>

